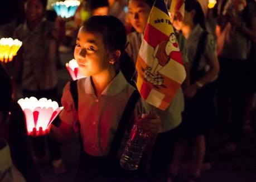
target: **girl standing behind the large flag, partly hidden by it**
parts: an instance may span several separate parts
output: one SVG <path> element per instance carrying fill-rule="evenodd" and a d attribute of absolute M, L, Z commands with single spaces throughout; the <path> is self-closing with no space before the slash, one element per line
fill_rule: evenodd
<path fill-rule="evenodd" d="M 139 47 L 141 46 L 143 33 L 146 29 L 149 13 L 153 6 L 153 0 L 129 0 L 128 2 L 128 18 L 135 32 L 127 35 L 128 46 L 125 49 L 129 57 L 136 65 Z M 178 44 L 181 49 L 183 62 L 187 62 L 186 42 L 182 35 L 177 36 Z M 176 130 L 181 123 L 181 113 L 184 107 L 182 90 L 178 90 L 170 107 L 165 111 L 156 109 L 157 114 L 162 120 L 160 134 L 158 134 L 156 143 L 152 150 L 152 161 L 150 165 L 150 173 L 158 178 L 152 178 L 153 181 L 165 180 L 168 174 L 168 168 L 171 163 L 172 152 L 176 139 Z"/>

